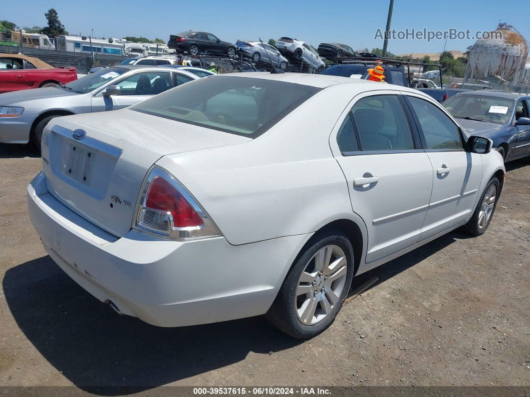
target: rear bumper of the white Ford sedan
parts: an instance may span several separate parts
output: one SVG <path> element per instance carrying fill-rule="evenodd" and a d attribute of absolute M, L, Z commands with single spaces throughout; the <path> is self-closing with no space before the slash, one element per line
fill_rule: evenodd
<path fill-rule="evenodd" d="M 123 314 L 161 327 L 266 313 L 310 235 L 234 246 L 224 237 L 173 242 L 135 230 L 118 239 L 61 204 L 42 173 L 28 185 L 33 226 L 77 284 Z"/>

